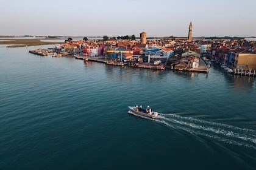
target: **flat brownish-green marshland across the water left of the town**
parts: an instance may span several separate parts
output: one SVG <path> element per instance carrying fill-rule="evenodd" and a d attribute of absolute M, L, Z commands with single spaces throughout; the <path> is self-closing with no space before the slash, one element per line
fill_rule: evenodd
<path fill-rule="evenodd" d="M 42 39 L 47 40 L 45 38 L 42 38 Z M 1 39 L 0 41 L 0 44 L 9 44 L 7 47 L 41 46 L 41 45 L 60 44 L 60 43 L 61 42 L 43 42 L 41 41 L 41 39 L 15 39 L 15 38 L 6 38 L 6 39 Z"/>

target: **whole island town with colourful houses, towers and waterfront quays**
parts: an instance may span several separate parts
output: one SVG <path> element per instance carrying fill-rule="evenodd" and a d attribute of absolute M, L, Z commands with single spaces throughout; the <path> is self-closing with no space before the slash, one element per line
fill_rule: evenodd
<path fill-rule="evenodd" d="M 208 73 L 212 64 L 238 75 L 256 75 L 255 41 L 244 38 L 192 37 L 192 23 L 188 37 L 147 38 L 146 32 L 135 35 L 103 39 L 66 39 L 53 49 L 35 49 L 30 53 L 61 57 L 71 55 L 77 59 L 144 69 L 171 69 Z"/>

